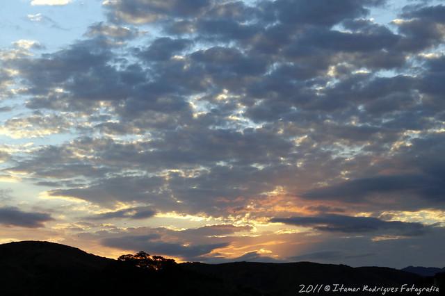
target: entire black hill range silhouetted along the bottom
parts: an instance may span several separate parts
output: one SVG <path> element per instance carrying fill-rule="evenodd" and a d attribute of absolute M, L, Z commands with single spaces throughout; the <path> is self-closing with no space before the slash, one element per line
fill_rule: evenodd
<path fill-rule="evenodd" d="M 432 277 L 391 268 L 350 268 L 307 262 L 176 264 L 162 261 L 163 258 L 156 261 L 162 263 L 161 268 L 152 268 L 152 265 L 147 268 L 140 263 L 145 261 L 129 258 L 127 261 L 102 258 L 51 242 L 0 245 L 0 295 L 281 296 L 298 295 L 300 283 L 430 286 L 434 281 Z"/>

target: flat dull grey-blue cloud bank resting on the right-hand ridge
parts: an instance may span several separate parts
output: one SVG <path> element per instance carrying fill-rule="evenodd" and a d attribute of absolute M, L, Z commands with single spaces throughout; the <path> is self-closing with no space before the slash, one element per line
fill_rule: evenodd
<path fill-rule="evenodd" d="M 423 236 L 388 236 L 386 239 L 373 239 L 362 233 L 358 236 L 339 236 L 338 233 L 325 233 L 317 242 L 310 242 L 289 261 L 316 261 L 319 263 L 347 264 L 358 266 L 393 266 L 405 268 L 414 265 L 442 266 L 437 261 L 442 256 L 440 245 L 443 242 L 443 227 L 433 227 Z M 307 238 L 294 238 L 304 241 Z M 423 256 L 418 256 L 419 250 Z"/>

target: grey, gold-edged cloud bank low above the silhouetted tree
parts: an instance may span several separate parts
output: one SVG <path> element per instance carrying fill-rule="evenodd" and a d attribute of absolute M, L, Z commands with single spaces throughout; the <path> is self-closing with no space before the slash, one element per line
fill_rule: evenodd
<path fill-rule="evenodd" d="M 127 221 L 129 224 L 129 221 Z M 188 224 L 188 222 L 186 223 Z M 186 224 L 181 226 L 186 227 Z M 99 224 L 76 222 L 77 227 L 98 229 Z M 144 250 L 149 254 L 175 256 L 184 261 L 211 261 L 218 257 L 218 249 L 227 249 L 232 241 L 243 238 L 252 227 L 232 224 L 211 224 L 198 228 L 173 229 L 172 227 L 108 227 L 98 231 L 81 230 L 67 238 L 66 243 L 88 243 L 101 245 L 106 249 L 125 251 Z M 100 229 L 100 228 L 99 228 Z M 74 230 L 79 231 L 79 230 Z M 120 254 L 116 251 L 115 254 Z M 261 251 L 262 252 L 262 251 Z"/>

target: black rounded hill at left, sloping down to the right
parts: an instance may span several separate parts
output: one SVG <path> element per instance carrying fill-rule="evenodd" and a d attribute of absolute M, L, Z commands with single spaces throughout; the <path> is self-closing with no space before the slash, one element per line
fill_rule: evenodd
<path fill-rule="evenodd" d="M 51 242 L 0 245 L 0 295 L 261 295 L 183 270 L 146 270 Z"/>

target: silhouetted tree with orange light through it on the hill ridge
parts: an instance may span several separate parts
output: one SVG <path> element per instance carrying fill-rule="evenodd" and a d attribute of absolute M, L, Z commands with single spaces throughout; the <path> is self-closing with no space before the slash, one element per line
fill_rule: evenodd
<path fill-rule="evenodd" d="M 143 251 L 134 255 L 122 255 L 118 260 L 145 270 L 165 270 L 172 268 L 176 264 L 174 259 L 164 258 L 163 256 L 150 256 Z"/>

